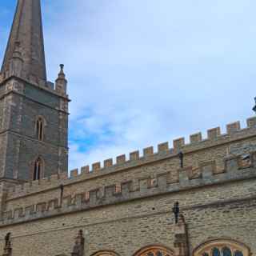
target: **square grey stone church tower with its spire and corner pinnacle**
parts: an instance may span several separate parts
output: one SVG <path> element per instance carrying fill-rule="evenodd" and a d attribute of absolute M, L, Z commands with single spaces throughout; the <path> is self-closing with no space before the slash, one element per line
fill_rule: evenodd
<path fill-rule="evenodd" d="M 0 181 L 68 168 L 68 96 L 61 65 L 47 82 L 40 0 L 18 0 L 0 73 Z"/>

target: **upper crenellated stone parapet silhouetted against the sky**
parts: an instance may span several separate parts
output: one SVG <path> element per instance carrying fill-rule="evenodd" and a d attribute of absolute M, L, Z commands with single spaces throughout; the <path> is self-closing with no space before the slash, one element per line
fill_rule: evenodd
<path fill-rule="evenodd" d="M 70 178 L 77 178 L 79 174 L 93 175 L 95 173 L 102 173 L 107 169 L 119 170 L 119 166 L 123 169 L 130 168 L 132 166 L 141 165 L 146 160 L 157 161 L 163 156 L 174 157 L 177 156 L 178 152 L 182 151 L 184 154 L 190 153 L 195 150 L 205 150 L 208 147 L 218 146 L 220 144 L 230 143 L 234 140 L 256 136 L 256 118 L 248 118 L 246 120 L 246 128 L 241 129 L 240 122 L 233 122 L 226 125 L 226 133 L 222 134 L 220 127 L 216 127 L 207 130 L 207 138 L 202 138 L 202 133 L 190 135 L 190 142 L 185 143 L 185 138 L 174 139 L 173 147 L 169 146 L 169 142 L 158 144 L 157 151 L 154 152 L 154 146 L 149 146 L 143 149 L 142 155 L 139 150 L 135 150 L 129 154 L 129 159 L 126 159 L 126 154 L 119 155 L 115 159 L 106 159 L 104 162 L 94 162 L 91 166 L 83 166 L 80 169 L 74 169 L 70 171 Z"/>

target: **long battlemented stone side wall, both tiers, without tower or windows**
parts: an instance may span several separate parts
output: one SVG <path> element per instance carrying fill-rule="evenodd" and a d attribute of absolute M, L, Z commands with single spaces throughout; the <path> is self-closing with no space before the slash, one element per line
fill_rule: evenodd
<path fill-rule="evenodd" d="M 188 228 L 190 255 L 214 238 L 238 240 L 256 253 L 255 118 L 240 130 L 210 130 L 95 163 L 36 182 L 12 186 L 2 200 L 0 250 L 11 232 L 13 256 L 70 255 L 83 230 L 86 255 L 113 250 L 132 256 L 144 246 L 174 249 L 174 202 Z M 231 129 L 232 128 L 232 129 Z M 184 154 L 181 168 L 178 152 Z"/>

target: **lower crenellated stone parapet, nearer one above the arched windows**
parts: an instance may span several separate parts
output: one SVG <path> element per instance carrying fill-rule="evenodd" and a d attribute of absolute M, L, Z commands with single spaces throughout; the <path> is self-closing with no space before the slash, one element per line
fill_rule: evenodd
<path fill-rule="evenodd" d="M 256 152 L 251 153 L 246 158 L 244 156 L 229 156 L 224 158 L 223 162 L 225 168 L 221 172 L 217 169 L 217 162 L 202 162 L 196 172 L 191 167 L 177 170 L 178 178 L 176 181 L 171 178 L 172 174 L 167 171 L 158 174 L 155 178 L 144 177 L 111 186 L 95 187 L 88 191 L 84 190 L 82 193 L 66 195 L 64 198 L 50 198 L 45 202 L 17 207 L 2 214 L 0 225 L 5 226 L 37 218 L 69 214 L 79 210 L 90 210 L 131 199 L 175 193 L 181 190 L 193 190 L 203 186 L 218 185 L 220 182 L 256 178 Z"/>

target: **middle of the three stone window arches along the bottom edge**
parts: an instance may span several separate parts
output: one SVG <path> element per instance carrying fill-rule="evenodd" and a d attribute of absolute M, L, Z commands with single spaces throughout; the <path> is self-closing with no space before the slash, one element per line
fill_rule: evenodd
<path fill-rule="evenodd" d="M 134 256 L 174 256 L 174 251 L 164 246 L 154 245 L 146 246 L 138 250 Z"/>

